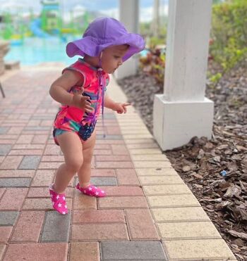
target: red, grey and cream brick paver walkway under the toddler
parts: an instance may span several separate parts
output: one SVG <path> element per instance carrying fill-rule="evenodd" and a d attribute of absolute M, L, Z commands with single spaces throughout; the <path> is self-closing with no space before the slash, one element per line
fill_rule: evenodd
<path fill-rule="evenodd" d="M 63 156 L 51 135 L 58 104 L 48 89 L 60 71 L 23 70 L 3 82 L 0 260 L 235 260 L 133 108 L 107 110 L 105 130 L 97 125 L 91 182 L 108 196 L 81 195 L 75 177 L 69 215 L 53 211 L 47 187 Z M 123 101 L 111 85 L 110 96 Z"/>

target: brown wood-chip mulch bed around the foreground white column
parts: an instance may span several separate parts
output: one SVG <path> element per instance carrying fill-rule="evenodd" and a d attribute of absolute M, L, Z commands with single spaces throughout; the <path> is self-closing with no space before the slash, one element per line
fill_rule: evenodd
<path fill-rule="evenodd" d="M 152 132 L 155 79 L 139 72 L 119 84 Z M 206 96 L 215 102 L 212 139 L 193 137 L 165 151 L 237 260 L 247 260 L 247 62 L 224 75 Z"/>

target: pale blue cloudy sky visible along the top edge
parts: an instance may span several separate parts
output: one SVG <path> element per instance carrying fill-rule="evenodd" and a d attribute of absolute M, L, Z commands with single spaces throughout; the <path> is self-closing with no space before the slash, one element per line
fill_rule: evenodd
<path fill-rule="evenodd" d="M 168 0 L 159 0 L 162 8 L 162 14 L 167 13 Z M 64 6 L 64 15 L 68 15 L 72 8 L 87 11 L 102 11 L 105 15 L 111 15 L 117 18 L 119 0 L 60 0 L 62 6 Z M 140 20 L 152 19 L 152 5 L 153 0 L 139 0 L 140 3 Z M 23 6 L 23 11 L 28 11 L 32 7 L 35 13 L 39 13 L 41 10 L 40 0 L 0 0 L 0 12 L 8 8 L 11 11 L 20 10 L 20 6 Z"/>

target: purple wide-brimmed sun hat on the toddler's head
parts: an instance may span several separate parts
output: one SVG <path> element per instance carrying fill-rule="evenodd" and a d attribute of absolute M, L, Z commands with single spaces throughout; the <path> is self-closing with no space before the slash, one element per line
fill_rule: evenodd
<path fill-rule="evenodd" d="M 140 34 L 128 33 L 126 28 L 114 18 L 97 18 L 85 30 L 82 39 L 69 42 L 66 53 L 73 56 L 99 56 L 109 46 L 128 44 L 129 48 L 123 61 L 142 51 L 145 42 Z"/>

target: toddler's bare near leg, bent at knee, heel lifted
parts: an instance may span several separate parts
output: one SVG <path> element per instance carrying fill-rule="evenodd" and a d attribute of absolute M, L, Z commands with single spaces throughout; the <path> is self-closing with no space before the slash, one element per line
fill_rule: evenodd
<path fill-rule="evenodd" d="M 54 191 L 63 193 L 73 176 L 83 165 L 83 146 L 79 136 L 74 132 L 65 132 L 57 136 L 65 163 L 56 172 Z"/>

